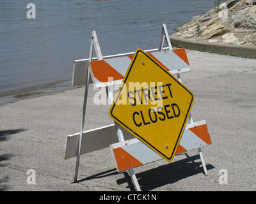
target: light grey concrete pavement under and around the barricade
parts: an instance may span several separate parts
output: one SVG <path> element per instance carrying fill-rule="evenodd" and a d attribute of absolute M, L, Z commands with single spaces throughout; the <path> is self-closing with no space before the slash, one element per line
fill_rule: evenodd
<path fill-rule="evenodd" d="M 142 191 L 255 191 L 256 60 L 187 50 L 194 121 L 206 120 L 212 145 L 135 168 Z M 71 74 L 71 73 L 70 73 Z M 90 86 L 84 129 L 112 124 L 110 105 L 97 106 Z M 117 173 L 109 148 L 63 160 L 65 136 L 79 132 L 84 87 L 0 106 L 0 191 L 134 191 Z M 35 172 L 35 184 L 28 184 Z M 28 173 L 27 173 L 28 171 Z M 227 184 L 220 184 L 227 173 Z M 223 180 L 222 180 L 223 181 Z"/>

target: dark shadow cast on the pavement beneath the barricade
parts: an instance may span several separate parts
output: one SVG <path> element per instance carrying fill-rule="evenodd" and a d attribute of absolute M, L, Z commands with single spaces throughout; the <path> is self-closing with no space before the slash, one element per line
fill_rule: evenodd
<path fill-rule="evenodd" d="M 141 187 L 141 191 L 150 191 L 152 189 L 156 189 L 157 187 L 165 186 L 166 184 L 173 184 L 175 182 L 178 182 L 179 180 L 191 177 L 198 173 L 204 173 L 204 169 L 202 167 L 202 162 L 199 155 L 191 157 L 189 157 L 188 154 L 185 155 L 187 156 L 187 158 L 185 159 L 180 159 L 179 161 L 158 166 L 157 168 L 152 168 L 150 170 L 140 173 L 135 172 Z M 211 164 L 207 164 L 206 168 L 207 170 L 212 170 L 214 169 L 214 166 L 212 166 Z M 128 186 L 126 188 L 131 189 L 131 191 L 135 191 L 131 178 L 129 177 L 127 171 L 121 173 L 124 174 L 124 178 L 116 180 L 116 183 L 118 185 L 127 183 Z M 103 177 L 117 174 L 118 172 L 114 168 L 78 180 L 77 182 L 83 182 L 90 179 L 100 179 Z"/>

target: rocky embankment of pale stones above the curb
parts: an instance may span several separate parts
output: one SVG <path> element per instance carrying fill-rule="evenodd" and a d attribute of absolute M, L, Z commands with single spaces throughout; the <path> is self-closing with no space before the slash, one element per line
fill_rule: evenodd
<path fill-rule="evenodd" d="M 205 15 L 193 17 L 176 31 L 171 36 L 208 43 L 256 46 L 256 0 L 229 0 Z"/>

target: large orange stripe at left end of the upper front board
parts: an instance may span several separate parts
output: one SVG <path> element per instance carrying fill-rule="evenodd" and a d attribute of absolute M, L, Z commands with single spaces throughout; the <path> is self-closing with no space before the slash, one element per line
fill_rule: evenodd
<path fill-rule="evenodd" d="M 97 78 L 100 82 L 108 82 L 109 77 L 113 77 L 113 81 L 123 79 L 124 76 L 121 75 L 116 69 L 111 67 L 104 60 L 92 61 L 91 62 L 93 77 Z"/>

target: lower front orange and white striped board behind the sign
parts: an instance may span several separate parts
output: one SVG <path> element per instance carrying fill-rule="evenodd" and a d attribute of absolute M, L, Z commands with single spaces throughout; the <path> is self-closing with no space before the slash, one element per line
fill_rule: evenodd
<path fill-rule="evenodd" d="M 208 133 L 205 120 L 187 124 L 182 135 L 179 147 L 175 154 L 187 152 L 211 144 L 211 138 Z M 159 156 L 154 150 L 147 147 L 137 138 L 118 142 L 110 145 L 111 152 L 116 161 L 116 170 L 124 171 L 130 168 L 151 163 L 163 157 Z"/>

